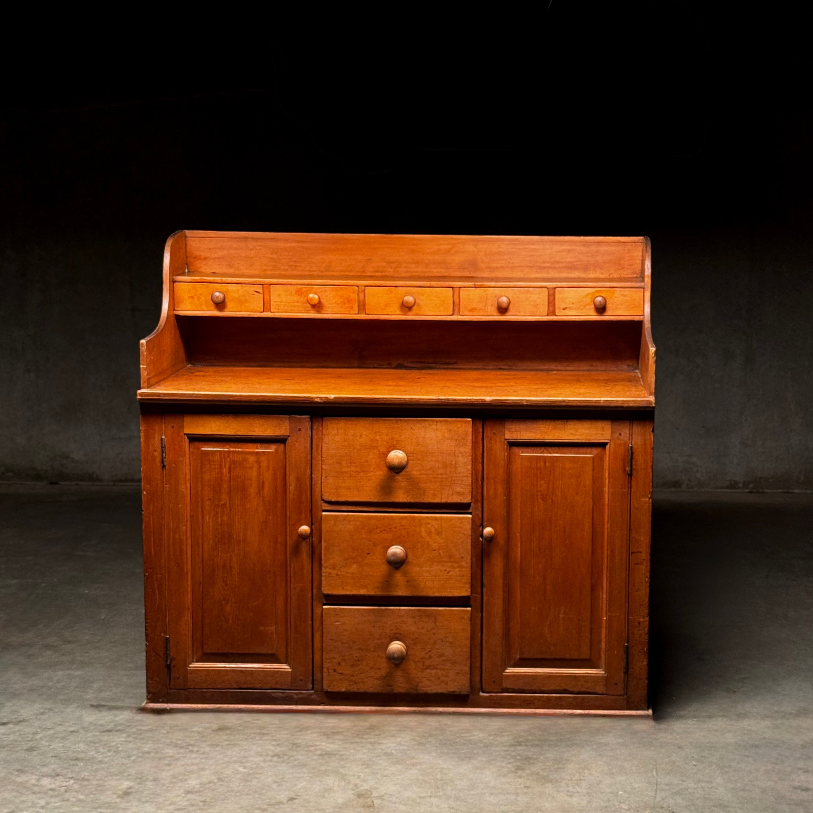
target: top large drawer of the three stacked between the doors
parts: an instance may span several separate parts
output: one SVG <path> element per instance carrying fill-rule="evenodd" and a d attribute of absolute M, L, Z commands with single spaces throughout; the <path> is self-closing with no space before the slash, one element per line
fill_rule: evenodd
<path fill-rule="evenodd" d="M 472 421 L 325 418 L 322 498 L 350 503 L 472 502 Z"/>

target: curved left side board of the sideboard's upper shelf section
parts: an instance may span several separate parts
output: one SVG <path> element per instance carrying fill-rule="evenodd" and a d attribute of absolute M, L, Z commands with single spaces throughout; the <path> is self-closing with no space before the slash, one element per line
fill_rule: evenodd
<path fill-rule="evenodd" d="M 158 384 L 186 364 L 186 350 L 175 319 L 175 286 L 172 277 L 186 267 L 186 236 L 176 232 L 163 250 L 163 298 L 158 327 L 139 342 L 141 387 Z"/>

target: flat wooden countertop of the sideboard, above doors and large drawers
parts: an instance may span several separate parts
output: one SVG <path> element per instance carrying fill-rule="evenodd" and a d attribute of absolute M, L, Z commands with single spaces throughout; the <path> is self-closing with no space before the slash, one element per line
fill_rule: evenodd
<path fill-rule="evenodd" d="M 577 370 L 189 366 L 139 390 L 138 398 L 280 405 L 654 406 L 637 371 Z"/>

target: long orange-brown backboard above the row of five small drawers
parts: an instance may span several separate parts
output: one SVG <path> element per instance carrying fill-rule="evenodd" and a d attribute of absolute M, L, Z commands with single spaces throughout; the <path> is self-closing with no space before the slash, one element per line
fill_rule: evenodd
<path fill-rule="evenodd" d="M 186 232 L 190 275 L 641 282 L 642 237 Z"/>

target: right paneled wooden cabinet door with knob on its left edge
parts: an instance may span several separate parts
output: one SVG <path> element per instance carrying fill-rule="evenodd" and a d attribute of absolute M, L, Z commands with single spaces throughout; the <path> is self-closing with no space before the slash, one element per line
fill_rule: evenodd
<path fill-rule="evenodd" d="M 483 691 L 624 693 L 629 421 L 485 423 Z"/>

